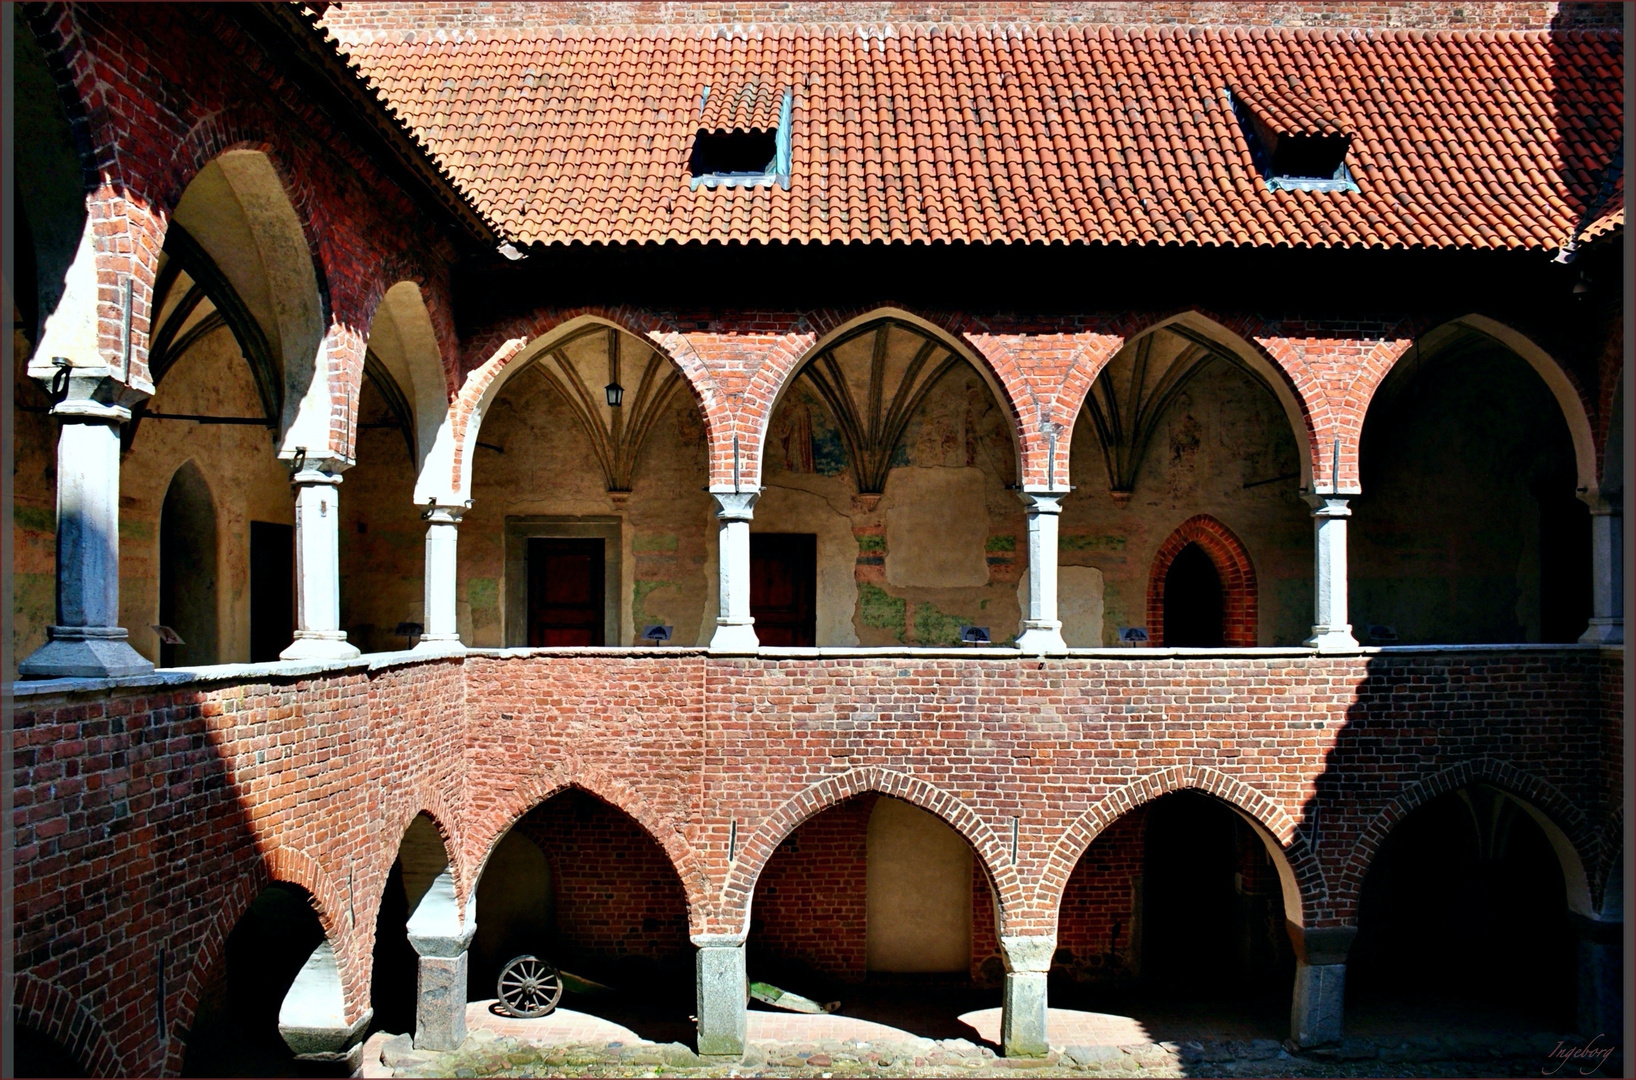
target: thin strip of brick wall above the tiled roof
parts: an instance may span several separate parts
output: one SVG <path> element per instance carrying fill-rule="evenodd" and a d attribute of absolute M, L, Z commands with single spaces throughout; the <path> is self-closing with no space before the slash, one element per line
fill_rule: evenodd
<path fill-rule="evenodd" d="M 1615 3 L 1425 3 L 1389 0 L 1283 0 L 1240 3 L 1171 0 L 1155 3 L 973 2 L 865 3 L 684 2 L 684 3 L 347 3 L 330 5 L 324 25 L 345 43 L 440 41 L 563 29 L 654 31 L 671 28 L 756 26 L 1283 26 L 1324 29 L 1548 29 L 1618 26 Z"/>

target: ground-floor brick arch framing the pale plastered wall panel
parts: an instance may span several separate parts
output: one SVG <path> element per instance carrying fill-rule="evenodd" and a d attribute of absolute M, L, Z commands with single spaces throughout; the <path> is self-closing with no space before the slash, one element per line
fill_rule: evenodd
<path fill-rule="evenodd" d="M 983 864 L 983 872 L 1000 895 L 1000 933 L 1006 933 L 1009 925 L 1022 916 L 1026 897 L 1018 880 L 1016 867 L 1011 866 L 1011 856 L 975 810 L 960 799 L 919 777 L 880 766 L 867 766 L 818 781 L 761 820 L 761 825 L 756 826 L 756 831 L 751 833 L 749 839 L 739 849 L 728 872 L 726 884 L 721 887 L 720 915 L 723 921 L 738 916 L 738 931 L 748 933 L 756 882 L 761 879 L 761 872 L 766 869 L 772 853 L 779 849 L 779 844 L 805 821 L 818 817 L 829 807 L 869 792 L 901 799 L 937 815 L 972 846 L 972 851 L 977 853 L 978 861 Z"/>

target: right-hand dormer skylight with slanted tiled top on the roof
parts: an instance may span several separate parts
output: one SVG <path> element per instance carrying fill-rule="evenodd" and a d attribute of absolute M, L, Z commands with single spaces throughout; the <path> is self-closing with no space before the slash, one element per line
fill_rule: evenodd
<path fill-rule="evenodd" d="M 1227 87 L 1250 157 L 1270 191 L 1356 191 L 1346 167 L 1351 133 L 1309 98 Z"/>

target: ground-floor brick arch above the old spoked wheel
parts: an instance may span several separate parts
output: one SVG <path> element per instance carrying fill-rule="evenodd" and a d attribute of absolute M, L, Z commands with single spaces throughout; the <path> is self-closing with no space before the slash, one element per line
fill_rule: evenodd
<path fill-rule="evenodd" d="M 664 851 L 664 856 L 671 862 L 671 871 L 681 882 L 682 893 L 687 898 L 689 933 L 700 933 L 710 913 L 710 879 L 705 875 L 692 844 L 682 835 L 681 825 L 654 812 L 648 800 L 623 781 L 609 776 L 602 769 L 574 763 L 564 763 L 545 776 L 530 777 L 519 787 L 502 792 L 497 802 L 484 807 L 481 820 L 468 821 L 468 828 L 465 830 L 468 844 L 466 859 L 474 869 L 466 882 L 468 892 L 458 893 L 460 902 L 465 903 L 470 895 L 476 893 L 478 884 L 483 880 L 483 871 L 488 869 L 489 856 L 494 854 L 494 848 L 504 839 L 506 833 L 525 813 L 569 787 L 576 787 L 587 795 L 596 795 L 628 817 Z"/>

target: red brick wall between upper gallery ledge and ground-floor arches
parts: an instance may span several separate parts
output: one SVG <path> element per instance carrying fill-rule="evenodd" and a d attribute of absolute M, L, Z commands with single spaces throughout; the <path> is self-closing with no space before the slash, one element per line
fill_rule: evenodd
<path fill-rule="evenodd" d="M 1544 813 L 1600 893 L 1623 792 L 1620 694 L 1618 655 L 1575 648 L 1049 661 L 525 653 L 36 694 L 16 717 L 21 1016 L 105 1072 L 173 1073 L 222 941 L 270 880 L 311 892 L 358 1016 L 381 890 L 414 815 L 437 821 L 465 895 L 499 838 L 571 787 L 607 807 L 586 800 L 584 820 L 551 826 L 551 815 L 574 818 L 574 802 L 555 800 L 530 828 L 546 844 L 560 843 L 546 833 L 618 833 L 636 859 L 618 871 L 627 885 L 581 885 L 656 920 L 638 952 L 679 947 L 682 928 L 663 911 L 685 910 L 692 933 L 746 929 L 757 879 L 789 879 L 780 843 L 870 792 L 931 810 L 972 843 L 1006 933 L 1057 929 L 1085 939 L 1075 949 L 1103 947 L 1108 928 L 1090 908 L 1129 874 L 1093 854 L 1076 875 L 1080 856 L 1098 838 L 1109 843 L 1096 851 L 1117 856 L 1126 815 L 1178 789 L 1260 823 L 1299 884 L 1302 910 L 1286 915 L 1307 926 L 1353 920 L 1392 825 L 1471 781 Z M 654 882 L 669 880 L 679 885 L 664 900 L 671 885 Z M 973 880 L 978 921 L 985 892 Z M 852 918 L 838 903 L 811 918 Z M 769 934 L 816 941 L 798 911 L 777 918 Z M 973 941 L 973 964 L 990 943 Z M 172 1026 L 155 1042 L 160 949 Z"/>

